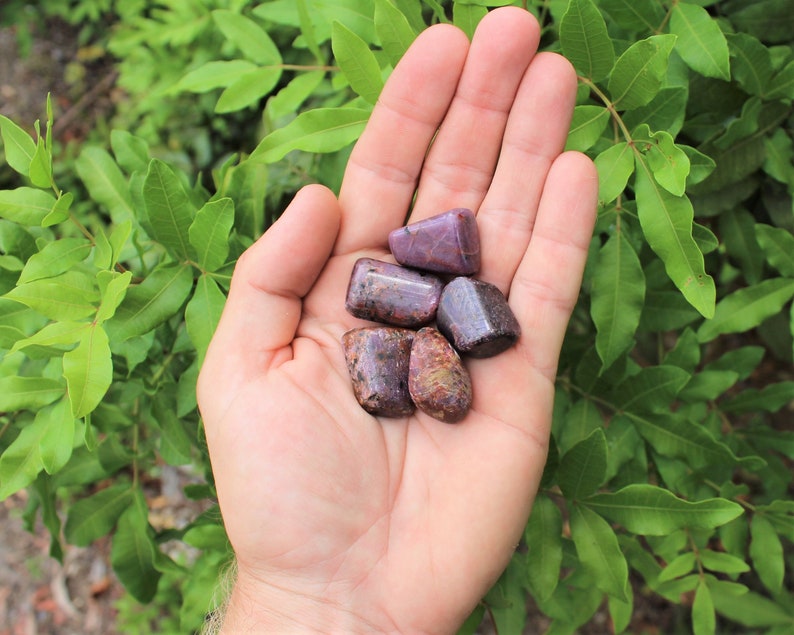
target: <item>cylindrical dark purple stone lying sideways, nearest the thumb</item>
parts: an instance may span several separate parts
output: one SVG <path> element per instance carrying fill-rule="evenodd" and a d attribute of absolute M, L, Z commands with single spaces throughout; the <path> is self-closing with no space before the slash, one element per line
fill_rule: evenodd
<path fill-rule="evenodd" d="M 353 265 L 345 308 L 365 320 L 422 326 L 435 317 L 443 287 L 433 274 L 360 258 Z"/>

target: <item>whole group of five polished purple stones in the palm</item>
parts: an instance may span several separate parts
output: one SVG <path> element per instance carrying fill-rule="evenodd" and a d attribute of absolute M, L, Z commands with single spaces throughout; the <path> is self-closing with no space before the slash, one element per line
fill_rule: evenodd
<path fill-rule="evenodd" d="M 496 286 L 472 277 L 480 237 L 471 210 L 395 229 L 389 248 L 398 264 L 360 258 L 350 276 L 345 308 L 389 325 L 342 336 L 353 392 L 374 415 L 402 417 L 419 408 L 458 422 L 472 403 L 459 353 L 482 358 L 510 348 L 521 333 L 518 320 Z"/>

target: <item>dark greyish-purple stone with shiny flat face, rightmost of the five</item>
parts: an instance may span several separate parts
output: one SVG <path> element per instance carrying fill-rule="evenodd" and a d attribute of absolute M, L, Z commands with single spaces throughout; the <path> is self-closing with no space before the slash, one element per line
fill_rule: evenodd
<path fill-rule="evenodd" d="M 455 278 L 444 287 L 436 323 L 455 348 L 472 357 L 498 355 L 521 335 L 502 292 L 472 278 Z"/>

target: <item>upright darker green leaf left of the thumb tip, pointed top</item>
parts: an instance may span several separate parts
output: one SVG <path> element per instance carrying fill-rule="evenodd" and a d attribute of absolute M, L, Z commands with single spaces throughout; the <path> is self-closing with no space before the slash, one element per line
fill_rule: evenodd
<path fill-rule="evenodd" d="M 143 198 L 152 237 L 177 258 L 190 258 L 188 231 L 196 213 L 182 183 L 163 161 L 152 159 L 143 182 Z"/>

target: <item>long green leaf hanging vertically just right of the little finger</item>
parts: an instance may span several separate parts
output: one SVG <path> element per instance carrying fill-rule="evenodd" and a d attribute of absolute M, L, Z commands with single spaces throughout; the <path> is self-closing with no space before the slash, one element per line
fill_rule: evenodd
<path fill-rule="evenodd" d="M 596 350 L 603 367 L 609 368 L 632 346 L 645 300 L 642 265 L 623 232 L 601 247 L 592 285 L 590 315 L 597 330 Z"/>

